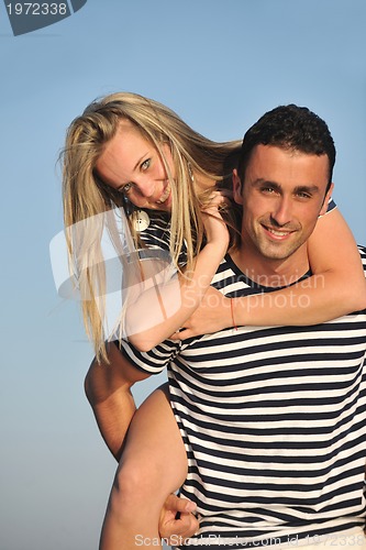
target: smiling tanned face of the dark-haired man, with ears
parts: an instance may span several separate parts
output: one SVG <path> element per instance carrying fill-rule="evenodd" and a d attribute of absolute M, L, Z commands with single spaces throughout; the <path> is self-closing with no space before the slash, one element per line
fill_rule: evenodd
<path fill-rule="evenodd" d="M 234 173 L 234 198 L 243 205 L 245 248 L 268 260 L 291 256 L 325 213 L 331 189 L 326 155 L 309 155 L 273 145 L 257 145 L 244 185 Z"/>

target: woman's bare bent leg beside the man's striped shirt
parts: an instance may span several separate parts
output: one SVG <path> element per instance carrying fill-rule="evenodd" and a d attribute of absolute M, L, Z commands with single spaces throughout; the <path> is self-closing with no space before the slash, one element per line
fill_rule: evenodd
<path fill-rule="evenodd" d="M 104 517 L 100 550 L 159 548 L 158 520 L 166 497 L 187 476 L 187 454 L 166 388 L 135 413 Z"/>

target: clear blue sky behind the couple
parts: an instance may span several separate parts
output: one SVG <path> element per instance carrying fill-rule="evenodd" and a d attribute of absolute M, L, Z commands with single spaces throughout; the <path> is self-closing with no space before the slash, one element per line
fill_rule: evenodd
<path fill-rule="evenodd" d="M 334 198 L 366 243 L 365 24 L 364 0 L 88 0 L 14 37 L 0 6 L 1 549 L 97 549 L 115 469 L 84 396 L 91 346 L 48 260 L 71 119 L 129 90 L 230 140 L 277 105 L 308 106 L 333 133 Z"/>

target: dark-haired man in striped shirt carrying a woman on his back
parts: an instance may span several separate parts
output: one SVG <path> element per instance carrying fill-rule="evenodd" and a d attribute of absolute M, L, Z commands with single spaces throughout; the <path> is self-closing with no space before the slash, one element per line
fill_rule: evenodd
<path fill-rule="evenodd" d="M 213 287 L 258 299 L 284 286 L 297 292 L 310 272 L 307 241 L 326 211 L 334 158 L 326 124 L 308 109 L 280 107 L 252 127 L 234 173 L 242 240 Z M 200 517 L 190 544 L 366 548 L 366 311 L 314 327 L 240 327 L 168 340 L 147 353 L 121 345 L 141 378 L 168 367 L 188 457 L 181 495 Z M 111 448 L 115 422 L 127 424 L 133 411 L 117 398 L 127 403 L 132 369 L 93 365 L 87 380 L 99 397 L 109 395 L 101 410 L 89 392 Z"/>

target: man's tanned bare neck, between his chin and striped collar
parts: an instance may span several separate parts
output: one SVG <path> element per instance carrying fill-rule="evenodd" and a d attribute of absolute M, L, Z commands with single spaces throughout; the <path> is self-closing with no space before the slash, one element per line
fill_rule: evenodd
<path fill-rule="evenodd" d="M 310 270 L 307 246 L 291 254 L 286 260 L 273 260 L 258 251 L 242 244 L 230 253 L 241 272 L 254 283 L 267 287 L 289 286 L 299 280 Z"/>

